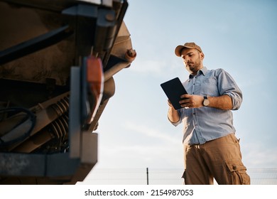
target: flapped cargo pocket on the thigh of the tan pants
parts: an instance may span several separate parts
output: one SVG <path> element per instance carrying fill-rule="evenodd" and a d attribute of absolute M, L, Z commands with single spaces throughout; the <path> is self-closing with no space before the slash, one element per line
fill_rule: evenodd
<path fill-rule="evenodd" d="M 229 183 L 232 185 L 250 185 L 250 177 L 240 159 L 225 162 L 230 173 Z"/>

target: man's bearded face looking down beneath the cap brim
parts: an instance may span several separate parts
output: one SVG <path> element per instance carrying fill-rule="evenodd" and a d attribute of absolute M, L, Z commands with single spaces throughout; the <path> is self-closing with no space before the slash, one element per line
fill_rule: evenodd
<path fill-rule="evenodd" d="M 204 54 L 196 49 L 184 48 L 181 52 L 181 58 L 185 68 L 193 75 L 197 75 L 197 71 L 203 67 Z"/>

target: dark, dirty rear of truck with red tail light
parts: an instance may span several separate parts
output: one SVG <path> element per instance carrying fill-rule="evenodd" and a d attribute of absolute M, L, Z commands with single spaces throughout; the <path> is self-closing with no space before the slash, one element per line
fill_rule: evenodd
<path fill-rule="evenodd" d="M 95 166 L 113 76 L 136 58 L 128 6 L 0 0 L 0 184 L 76 184 Z"/>

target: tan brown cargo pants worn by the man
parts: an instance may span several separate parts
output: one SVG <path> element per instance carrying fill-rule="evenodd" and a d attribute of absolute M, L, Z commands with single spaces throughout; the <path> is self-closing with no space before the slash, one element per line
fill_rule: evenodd
<path fill-rule="evenodd" d="M 241 162 L 239 140 L 234 134 L 207 141 L 205 144 L 185 145 L 186 185 L 249 185 L 250 178 Z"/>

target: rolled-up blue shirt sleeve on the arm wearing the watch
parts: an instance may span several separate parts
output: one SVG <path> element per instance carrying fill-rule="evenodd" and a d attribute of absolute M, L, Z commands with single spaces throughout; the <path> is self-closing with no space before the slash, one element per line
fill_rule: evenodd
<path fill-rule="evenodd" d="M 219 70 L 217 82 L 220 95 L 229 95 L 232 98 L 232 110 L 239 109 L 242 103 L 242 92 L 232 76 L 221 69 Z"/>

